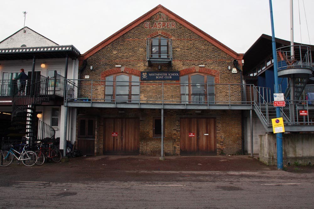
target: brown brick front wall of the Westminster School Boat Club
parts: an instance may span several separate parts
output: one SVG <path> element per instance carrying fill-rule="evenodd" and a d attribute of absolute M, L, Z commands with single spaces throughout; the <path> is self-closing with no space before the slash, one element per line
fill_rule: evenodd
<path fill-rule="evenodd" d="M 145 22 L 153 24 L 157 14 Z M 166 22 L 175 22 L 168 19 Z M 195 34 L 178 22 L 176 28 L 146 29 L 144 24 L 139 24 L 129 30 L 110 44 L 106 45 L 95 54 L 87 58 L 88 65 L 82 71 L 81 79 L 86 75 L 89 80 L 97 81 L 96 87 L 91 89 L 91 82 L 81 83 L 81 93 L 87 97 L 93 92 L 93 98 L 104 98 L 104 79 L 113 73 L 130 73 L 138 75 L 141 71 L 180 71 L 180 75 L 189 73 L 206 73 L 215 77 L 216 84 L 240 84 L 240 74 L 232 74 L 228 66 L 233 66 L 234 58 L 220 50 L 201 36 Z M 148 66 L 146 60 L 146 39 L 157 34 L 164 34 L 172 39 L 173 61 L 172 65 L 152 64 Z M 115 67 L 122 65 L 122 67 Z M 199 67 L 198 65 L 205 65 Z M 90 71 L 89 67 L 94 70 Z M 180 100 L 179 81 L 166 81 L 164 85 L 164 100 Z M 95 83 L 94 83 L 95 84 Z M 160 84 L 150 82 L 141 83 L 141 100 L 162 100 Z M 229 93 L 231 91 L 231 94 Z M 215 87 L 217 100 L 241 101 L 239 86 L 221 85 Z M 97 96 L 97 97 L 96 97 Z M 100 100 L 97 100 L 100 101 Z M 158 103 L 158 102 L 157 102 Z M 140 153 L 160 154 L 160 138 L 153 137 L 153 118 L 160 117 L 160 110 L 154 109 L 123 109 L 126 113 L 120 114 L 117 109 L 81 108 L 80 114 L 93 115 L 97 118 L 97 146 L 95 152 L 102 154 L 103 118 L 109 117 L 138 117 L 140 118 Z M 217 153 L 220 150 L 226 154 L 235 154 L 241 149 L 241 111 L 234 110 L 206 110 L 196 114 L 195 110 L 168 110 L 165 109 L 165 138 L 164 150 L 166 154 L 180 154 L 180 117 L 212 117 L 216 118 Z"/>

